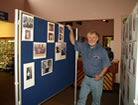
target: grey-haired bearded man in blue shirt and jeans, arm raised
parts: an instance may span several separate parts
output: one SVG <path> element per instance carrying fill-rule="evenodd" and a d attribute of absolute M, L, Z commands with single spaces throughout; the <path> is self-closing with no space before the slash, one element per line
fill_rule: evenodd
<path fill-rule="evenodd" d="M 87 96 L 92 92 L 92 105 L 100 105 L 103 76 L 111 65 L 106 50 L 97 43 L 99 34 L 95 31 L 88 32 L 88 42 L 78 42 L 75 40 L 72 27 L 67 25 L 70 30 L 70 41 L 82 56 L 83 71 L 85 73 L 81 84 L 80 95 L 77 105 L 85 105 Z"/>

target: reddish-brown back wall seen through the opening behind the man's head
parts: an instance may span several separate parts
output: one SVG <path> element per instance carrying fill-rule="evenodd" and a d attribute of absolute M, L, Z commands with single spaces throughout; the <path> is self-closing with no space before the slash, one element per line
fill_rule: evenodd
<path fill-rule="evenodd" d="M 100 34 L 99 43 L 101 45 L 103 44 L 103 36 L 114 36 L 113 20 L 108 20 L 108 22 L 102 20 L 86 20 L 82 21 L 81 25 L 74 22 L 73 27 L 78 28 L 78 35 L 81 37 L 86 37 L 87 33 L 91 30 L 97 31 Z"/>

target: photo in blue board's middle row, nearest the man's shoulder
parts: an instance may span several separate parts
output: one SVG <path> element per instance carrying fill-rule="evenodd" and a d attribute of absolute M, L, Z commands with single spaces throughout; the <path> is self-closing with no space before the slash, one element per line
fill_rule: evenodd
<path fill-rule="evenodd" d="M 55 43 L 55 61 L 66 59 L 66 43 L 65 42 L 57 42 Z"/>

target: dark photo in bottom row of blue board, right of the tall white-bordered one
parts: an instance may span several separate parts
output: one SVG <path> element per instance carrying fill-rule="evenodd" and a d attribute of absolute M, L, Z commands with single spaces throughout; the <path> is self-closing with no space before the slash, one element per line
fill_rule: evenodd
<path fill-rule="evenodd" d="M 42 76 L 53 72 L 53 59 L 41 61 L 41 74 Z"/>

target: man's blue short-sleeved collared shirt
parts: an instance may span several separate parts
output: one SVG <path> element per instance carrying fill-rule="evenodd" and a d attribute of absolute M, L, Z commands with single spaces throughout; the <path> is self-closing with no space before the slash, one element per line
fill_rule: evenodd
<path fill-rule="evenodd" d="M 100 44 L 90 48 L 88 42 L 75 41 L 75 50 L 81 53 L 83 71 L 86 75 L 99 74 L 104 67 L 111 65 L 107 51 Z"/>

